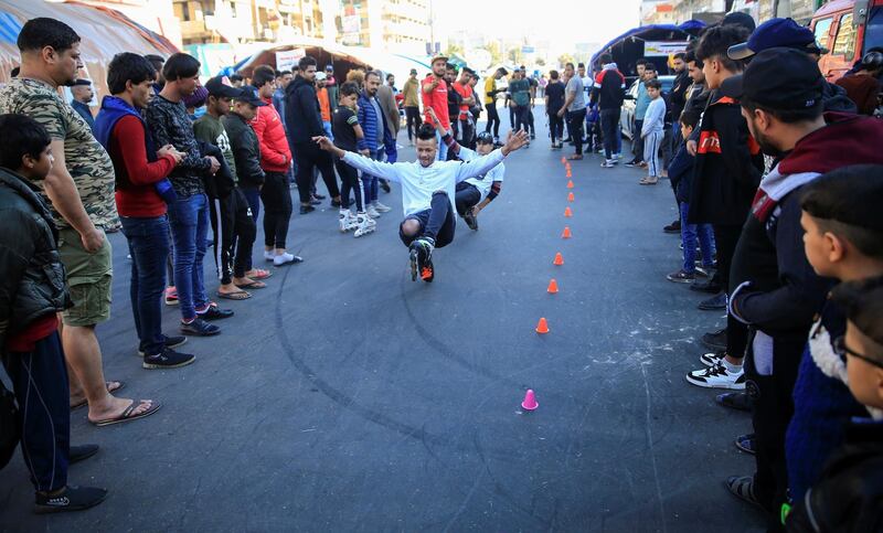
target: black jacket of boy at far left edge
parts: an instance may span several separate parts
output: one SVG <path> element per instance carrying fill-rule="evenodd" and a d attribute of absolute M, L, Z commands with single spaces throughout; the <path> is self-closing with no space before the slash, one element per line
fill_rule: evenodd
<path fill-rule="evenodd" d="M 39 190 L 0 169 L 0 352 L 7 338 L 72 306 L 58 233 Z"/>

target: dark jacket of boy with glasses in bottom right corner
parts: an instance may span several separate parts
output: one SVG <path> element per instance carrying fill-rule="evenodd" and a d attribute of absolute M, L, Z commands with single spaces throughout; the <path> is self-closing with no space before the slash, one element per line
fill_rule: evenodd
<path fill-rule="evenodd" d="M 795 502 L 789 533 L 883 530 L 883 423 L 855 419 L 821 479 Z"/>

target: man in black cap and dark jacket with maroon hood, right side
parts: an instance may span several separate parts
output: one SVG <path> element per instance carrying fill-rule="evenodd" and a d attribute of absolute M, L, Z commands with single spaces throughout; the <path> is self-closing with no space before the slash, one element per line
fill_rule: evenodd
<path fill-rule="evenodd" d="M 736 245 L 730 316 L 749 327 L 746 390 L 754 401 L 756 473 L 727 481 L 736 495 L 770 513 L 780 529 L 787 502 L 785 433 L 791 395 L 813 317 L 832 280 L 819 277 L 804 252 L 800 191 L 823 172 L 880 163 L 883 127 L 850 115 L 822 116 L 823 78 L 807 54 L 768 49 L 722 93 L 741 98 L 752 134 L 780 160 L 764 177 Z M 827 122 L 827 125 L 826 125 Z M 797 139 L 797 140 L 795 140 Z"/>

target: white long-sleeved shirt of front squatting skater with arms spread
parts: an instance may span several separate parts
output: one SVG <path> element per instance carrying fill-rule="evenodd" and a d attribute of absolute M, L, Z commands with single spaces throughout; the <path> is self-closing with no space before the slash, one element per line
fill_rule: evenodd
<path fill-rule="evenodd" d="M 433 193 L 448 193 L 451 209 L 456 209 L 454 196 L 457 183 L 487 173 L 500 164 L 504 156 L 499 149 L 471 161 L 435 161 L 424 167 L 419 161 L 385 163 L 348 151 L 343 162 L 362 172 L 402 183 L 402 209 L 405 216 L 428 210 Z"/>

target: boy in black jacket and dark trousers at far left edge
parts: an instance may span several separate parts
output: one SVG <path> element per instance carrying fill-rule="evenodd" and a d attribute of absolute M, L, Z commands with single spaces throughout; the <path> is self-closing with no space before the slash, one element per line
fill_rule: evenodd
<path fill-rule="evenodd" d="M 36 491 L 34 511 L 79 511 L 104 501 L 107 490 L 67 486 L 67 465 L 98 447 L 70 446 L 57 313 L 72 302 L 58 232 L 33 184 L 52 169 L 52 139 L 24 115 L 0 116 L 0 353 L 19 404 L 22 456 Z"/>

